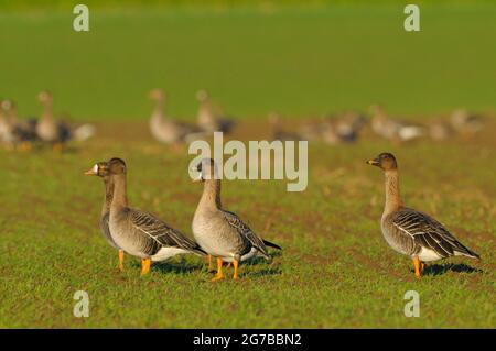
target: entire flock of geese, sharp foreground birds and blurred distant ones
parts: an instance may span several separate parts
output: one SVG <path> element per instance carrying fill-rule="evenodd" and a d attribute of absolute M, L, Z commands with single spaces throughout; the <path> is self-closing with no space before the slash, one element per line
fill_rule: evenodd
<path fill-rule="evenodd" d="M 177 145 L 213 132 L 228 133 L 235 127 L 233 119 L 209 99 L 205 90 L 197 92 L 198 113 L 196 124 L 175 121 L 165 111 L 166 96 L 160 89 L 149 94 L 154 101 L 150 119 L 152 135 L 160 142 Z M 1 100 L 0 142 L 8 149 L 29 150 L 33 144 L 63 149 L 71 140 L 90 138 L 95 128 L 79 127 L 56 121 L 53 116 L 53 97 L 47 91 L 37 96 L 42 103 L 39 119 L 21 120 L 12 100 Z M 430 125 L 411 124 L 388 117 L 380 106 L 371 106 L 370 127 L 380 136 L 407 142 L 424 136 L 428 132 L 435 140 L 451 133 L 473 135 L 483 128 L 478 116 L 464 110 L 453 112 L 450 121 Z M 324 122 L 308 123 L 298 130 L 284 131 L 281 118 L 271 113 L 273 140 L 320 140 L 328 144 L 351 143 L 358 139 L 367 119 L 358 112 L 347 112 Z M 434 136 L 435 135 L 435 136 Z M 420 277 L 425 262 L 449 256 L 479 256 L 463 245 L 434 218 L 405 206 L 399 191 L 398 163 L 390 153 L 382 153 L 367 162 L 385 174 L 386 205 L 380 227 L 386 242 L 397 252 L 412 259 L 414 274 Z M 240 262 L 252 257 L 271 260 L 268 248 L 282 250 L 279 245 L 257 235 L 236 213 L 226 210 L 220 201 L 220 179 L 216 177 L 217 165 L 211 158 L 202 160 L 195 169 L 197 182 L 203 183 L 203 194 L 192 221 L 194 240 L 184 235 L 160 218 L 129 206 L 127 198 L 127 165 L 121 158 L 99 162 L 86 172 L 103 179 L 105 200 L 100 216 L 100 232 L 119 252 L 119 270 L 123 270 L 125 253 L 141 259 L 141 273 L 150 272 L 152 262 L 168 260 L 177 254 L 205 256 L 208 271 L 216 259 L 217 270 L 213 281 L 225 277 L 223 264 L 234 266 L 233 278 L 238 278 Z"/>

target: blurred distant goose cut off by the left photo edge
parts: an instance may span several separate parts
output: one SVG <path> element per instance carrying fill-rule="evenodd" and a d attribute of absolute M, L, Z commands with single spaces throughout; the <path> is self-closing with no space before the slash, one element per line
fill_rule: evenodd
<path fill-rule="evenodd" d="M 12 100 L 2 100 L 0 103 L 0 142 L 8 149 L 30 150 L 36 138 L 36 121 L 20 121 Z"/>

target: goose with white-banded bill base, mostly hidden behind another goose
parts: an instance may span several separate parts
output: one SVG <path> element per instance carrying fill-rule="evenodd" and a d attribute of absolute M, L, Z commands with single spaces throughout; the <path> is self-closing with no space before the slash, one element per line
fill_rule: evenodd
<path fill-rule="evenodd" d="M 108 172 L 108 162 L 99 162 L 91 169 L 85 173 L 85 175 L 98 176 L 104 180 L 105 185 L 105 200 L 101 207 L 100 215 L 100 232 L 105 240 L 115 249 L 119 250 L 119 271 L 123 271 L 123 250 L 120 249 L 110 235 L 110 229 L 108 226 L 110 218 L 110 205 L 114 198 L 114 183 Z"/>

